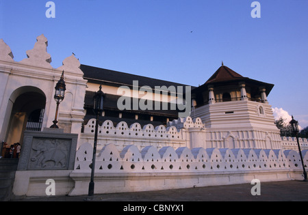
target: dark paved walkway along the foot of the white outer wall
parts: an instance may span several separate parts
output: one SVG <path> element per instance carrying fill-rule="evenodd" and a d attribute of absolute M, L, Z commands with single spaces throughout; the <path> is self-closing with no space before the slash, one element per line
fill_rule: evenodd
<path fill-rule="evenodd" d="M 251 195 L 254 186 L 254 184 L 235 184 L 151 192 L 113 193 L 94 195 L 94 201 L 308 201 L 308 182 L 261 182 L 260 195 Z M 86 196 L 49 196 L 27 197 L 18 201 L 84 201 L 84 199 Z"/>

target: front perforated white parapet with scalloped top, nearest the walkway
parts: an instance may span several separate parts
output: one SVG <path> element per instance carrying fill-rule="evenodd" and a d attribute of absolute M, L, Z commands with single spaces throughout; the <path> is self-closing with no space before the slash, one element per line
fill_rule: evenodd
<path fill-rule="evenodd" d="M 79 147 L 75 171 L 90 172 L 92 145 Z M 305 166 L 308 150 L 303 151 Z M 282 149 L 204 149 L 201 147 L 144 147 L 128 145 L 122 152 L 113 144 L 103 147 L 96 158 L 96 172 L 181 172 L 181 171 L 250 171 L 301 169 L 300 156 L 294 150 Z"/>

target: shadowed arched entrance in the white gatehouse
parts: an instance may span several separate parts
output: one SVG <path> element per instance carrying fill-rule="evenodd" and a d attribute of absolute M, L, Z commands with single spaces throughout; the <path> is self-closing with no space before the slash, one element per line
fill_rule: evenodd
<path fill-rule="evenodd" d="M 10 121 L 6 135 L 6 143 L 23 143 L 25 130 L 40 130 L 46 96 L 37 87 L 20 87 L 16 89 L 10 98 L 13 102 L 10 112 Z"/>

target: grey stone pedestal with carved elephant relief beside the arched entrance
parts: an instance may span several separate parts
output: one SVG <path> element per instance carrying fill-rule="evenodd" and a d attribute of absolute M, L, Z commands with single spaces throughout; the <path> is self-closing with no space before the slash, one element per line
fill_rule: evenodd
<path fill-rule="evenodd" d="M 17 170 L 74 169 L 77 139 L 59 128 L 25 131 Z"/>

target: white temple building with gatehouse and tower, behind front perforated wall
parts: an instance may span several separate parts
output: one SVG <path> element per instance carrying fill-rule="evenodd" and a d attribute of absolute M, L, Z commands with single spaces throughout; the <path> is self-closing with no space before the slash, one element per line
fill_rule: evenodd
<path fill-rule="evenodd" d="M 64 71 L 67 90 L 60 105 L 58 121 L 64 132 L 79 134 L 78 145 L 85 141 L 91 142 L 93 129 L 90 128 L 93 126 L 92 119 L 95 118 L 92 96 L 99 85 L 102 85 L 106 95 L 104 112 L 100 117 L 103 124 L 99 134 L 100 148 L 110 140 L 119 144 L 119 148 L 131 143 L 138 147 L 156 144 L 157 148 L 184 145 L 190 148 L 282 149 L 285 145 L 274 125 L 268 102 L 268 95 L 274 85 L 244 77 L 223 63 L 203 85 L 190 86 L 192 91 L 185 92 L 186 85 L 180 83 L 81 65 L 74 55 L 64 59 L 60 68 L 52 68 L 51 56 L 47 53 L 47 38 L 44 35 L 38 36 L 34 48 L 27 51 L 28 58 L 20 62 L 14 61 L 10 47 L 3 40 L 0 41 L 0 46 L 3 88 L 0 139 L 9 144 L 22 143 L 23 130 L 42 130 L 52 124 L 55 114 L 54 86 Z M 145 98 L 133 89 L 133 81 L 138 81 L 138 90 L 146 86 L 153 89 L 153 93 L 149 95 L 148 91 Z M 146 102 L 152 103 L 153 109 L 142 110 L 138 107 L 119 110 L 117 101 L 123 98 L 123 94 L 119 94 L 118 89 L 123 86 L 129 89 L 131 98 L 135 96 L 139 102 L 145 98 Z M 166 92 L 155 91 L 157 86 L 165 86 Z M 172 91 L 171 87 L 175 87 L 175 90 L 176 87 L 183 87 L 183 91 Z M 170 109 L 170 106 L 172 101 L 183 98 L 188 93 L 192 99 L 192 109 L 187 115 L 190 117 L 179 119 L 179 109 Z M 166 98 L 162 98 L 163 96 Z M 168 108 L 156 110 L 155 98 L 159 98 L 159 107 L 166 103 Z M 192 124 L 190 121 L 198 121 L 198 127 L 201 128 L 187 126 Z M 133 124 L 142 134 L 135 133 L 132 138 L 127 130 Z M 168 138 L 167 135 L 159 137 L 162 134 L 149 136 L 147 132 L 150 128 L 155 131 L 160 128 L 165 133 L 171 129 L 176 135 L 168 135 Z M 124 129 L 124 133 L 110 132 L 110 129 Z M 301 141 L 307 143 L 306 139 Z"/>

